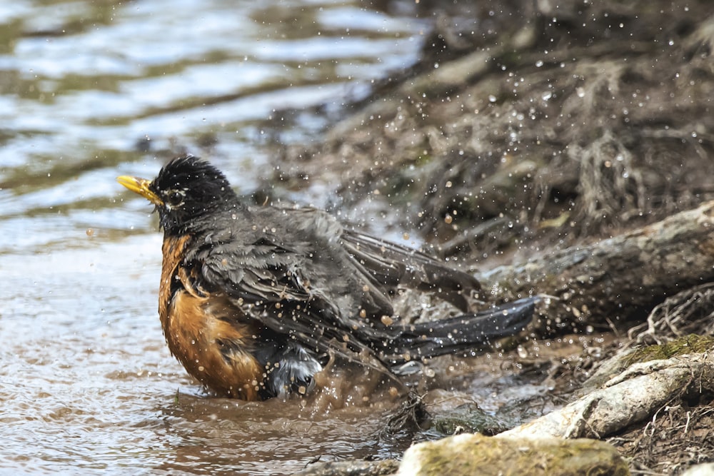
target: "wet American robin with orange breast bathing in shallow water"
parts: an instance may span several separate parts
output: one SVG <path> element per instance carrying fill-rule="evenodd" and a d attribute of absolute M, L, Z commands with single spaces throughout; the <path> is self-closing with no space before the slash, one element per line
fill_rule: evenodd
<path fill-rule="evenodd" d="M 466 313 L 476 278 L 417 250 L 351 231 L 315 208 L 248 206 L 207 161 L 166 164 L 121 185 L 156 206 L 164 229 L 159 315 L 171 353 L 218 395 L 306 393 L 332 356 L 406 373 L 408 363 L 522 330 L 537 298 Z M 465 314 L 410 324 L 399 288 Z"/>

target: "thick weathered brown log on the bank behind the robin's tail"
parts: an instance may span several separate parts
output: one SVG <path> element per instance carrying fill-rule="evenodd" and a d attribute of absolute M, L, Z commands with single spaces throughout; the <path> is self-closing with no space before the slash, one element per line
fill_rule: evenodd
<path fill-rule="evenodd" d="M 714 201 L 600 241 L 502 266 L 479 278 L 513 295 L 558 298 L 550 330 L 585 325 L 625 328 L 670 295 L 714 280 Z"/>

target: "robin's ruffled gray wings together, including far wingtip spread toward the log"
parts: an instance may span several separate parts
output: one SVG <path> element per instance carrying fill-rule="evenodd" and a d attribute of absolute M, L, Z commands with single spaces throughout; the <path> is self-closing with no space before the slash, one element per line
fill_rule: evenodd
<path fill-rule="evenodd" d="M 386 325 L 398 286 L 430 290 L 466 309 L 471 275 L 416 250 L 344 231 L 313 210 L 250 208 L 203 237 L 194 253 L 203 279 L 246 315 L 320 352 L 378 358 L 403 328 Z"/>

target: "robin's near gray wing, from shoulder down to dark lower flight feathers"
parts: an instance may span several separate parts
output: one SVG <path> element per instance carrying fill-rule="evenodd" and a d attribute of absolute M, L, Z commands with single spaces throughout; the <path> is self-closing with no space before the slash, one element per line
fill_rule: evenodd
<path fill-rule="evenodd" d="M 341 226 L 311 210 L 256 208 L 244 218 L 249 226 L 228 222 L 231 228 L 203 237 L 188 257 L 201 262 L 205 286 L 223 290 L 250 318 L 306 348 L 349 359 L 361 354 L 362 363 L 384 370 L 368 343 L 396 331 L 361 310 L 388 299 L 369 292 L 371 278 L 353 268 L 339 244 Z M 374 303 L 373 294 L 384 303 Z"/>

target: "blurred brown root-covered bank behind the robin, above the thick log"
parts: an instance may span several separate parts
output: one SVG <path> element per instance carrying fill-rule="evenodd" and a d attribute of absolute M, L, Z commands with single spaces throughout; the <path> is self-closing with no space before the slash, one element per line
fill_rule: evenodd
<path fill-rule="evenodd" d="M 522 253 L 713 198 L 714 4 L 533 3 L 486 2 L 471 42 L 442 17 L 415 76 L 386 81 L 323 143 L 282 151 L 272 179 L 399 209 L 394 225 L 430 240 L 493 223 L 498 247 Z"/>

